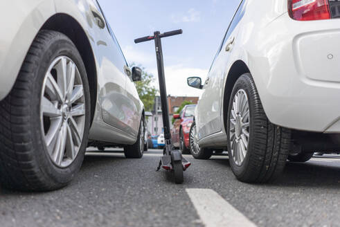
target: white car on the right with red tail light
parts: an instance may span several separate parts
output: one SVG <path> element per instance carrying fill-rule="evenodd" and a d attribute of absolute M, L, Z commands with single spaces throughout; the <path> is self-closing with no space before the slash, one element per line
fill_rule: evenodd
<path fill-rule="evenodd" d="M 243 0 L 202 84 L 196 158 L 227 147 L 240 181 L 340 148 L 340 1 Z"/>

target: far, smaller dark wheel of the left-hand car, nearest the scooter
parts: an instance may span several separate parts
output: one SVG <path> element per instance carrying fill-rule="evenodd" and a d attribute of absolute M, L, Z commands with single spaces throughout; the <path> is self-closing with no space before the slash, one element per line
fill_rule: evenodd
<path fill-rule="evenodd" d="M 124 147 L 124 154 L 126 158 L 141 158 L 143 157 L 144 151 L 144 119 L 142 118 L 141 124 L 139 125 L 139 132 L 137 141 L 133 145 L 127 145 Z"/>

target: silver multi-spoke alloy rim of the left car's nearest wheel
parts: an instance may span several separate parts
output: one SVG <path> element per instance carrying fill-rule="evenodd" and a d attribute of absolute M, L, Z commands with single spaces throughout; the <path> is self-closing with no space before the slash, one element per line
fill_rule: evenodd
<path fill-rule="evenodd" d="M 48 155 L 58 167 L 68 167 L 78 155 L 85 127 L 82 78 L 69 57 L 57 57 L 48 67 L 40 119 Z"/>

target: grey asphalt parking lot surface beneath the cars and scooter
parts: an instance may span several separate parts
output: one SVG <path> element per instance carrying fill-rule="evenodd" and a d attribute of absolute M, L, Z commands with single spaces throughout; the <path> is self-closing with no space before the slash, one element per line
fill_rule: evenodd
<path fill-rule="evenodd" d="M 66 188 L 24 193 L 0 190 L 0 226 L 204 226 L 186 189 L 219 194 L 257 226 L 340 226 L 340 159 L 287 163 L 270 184 L 235 179 L 226 156 L 188 159 L 183 185 L 156 172 L 160 150 L 125 159 L 119 150 L 87 154 Z M 242 225 L 241 225 L 242 226 Z"/>

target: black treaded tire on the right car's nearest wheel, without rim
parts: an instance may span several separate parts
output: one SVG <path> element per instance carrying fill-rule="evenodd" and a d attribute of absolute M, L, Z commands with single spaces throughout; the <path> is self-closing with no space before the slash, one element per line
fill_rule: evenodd
<path fill-rule="evenodd" d="M 233 105 L 233 97 L 239 89 L 246 91 L 249 99 L 251 116 L 251 131 L 248 144 L 248 152 L 241 167 L 235 165 L 233 158 L 229 157 L 231 169 L 238 180 L 247 183 L 265 183 L 278 177 L 285 167 L 289 154 L 291 131 L 284 127 L 272 124 L 267 118 L 262 107 L 260 96 L 255 82 L 250 73 L 241 75 L 235 83 L 229 111 Z M 230 116 L 228 115 L 227 131 L 229 131 Z M 228 136 L 228 147 L 231 143 Z"/>

